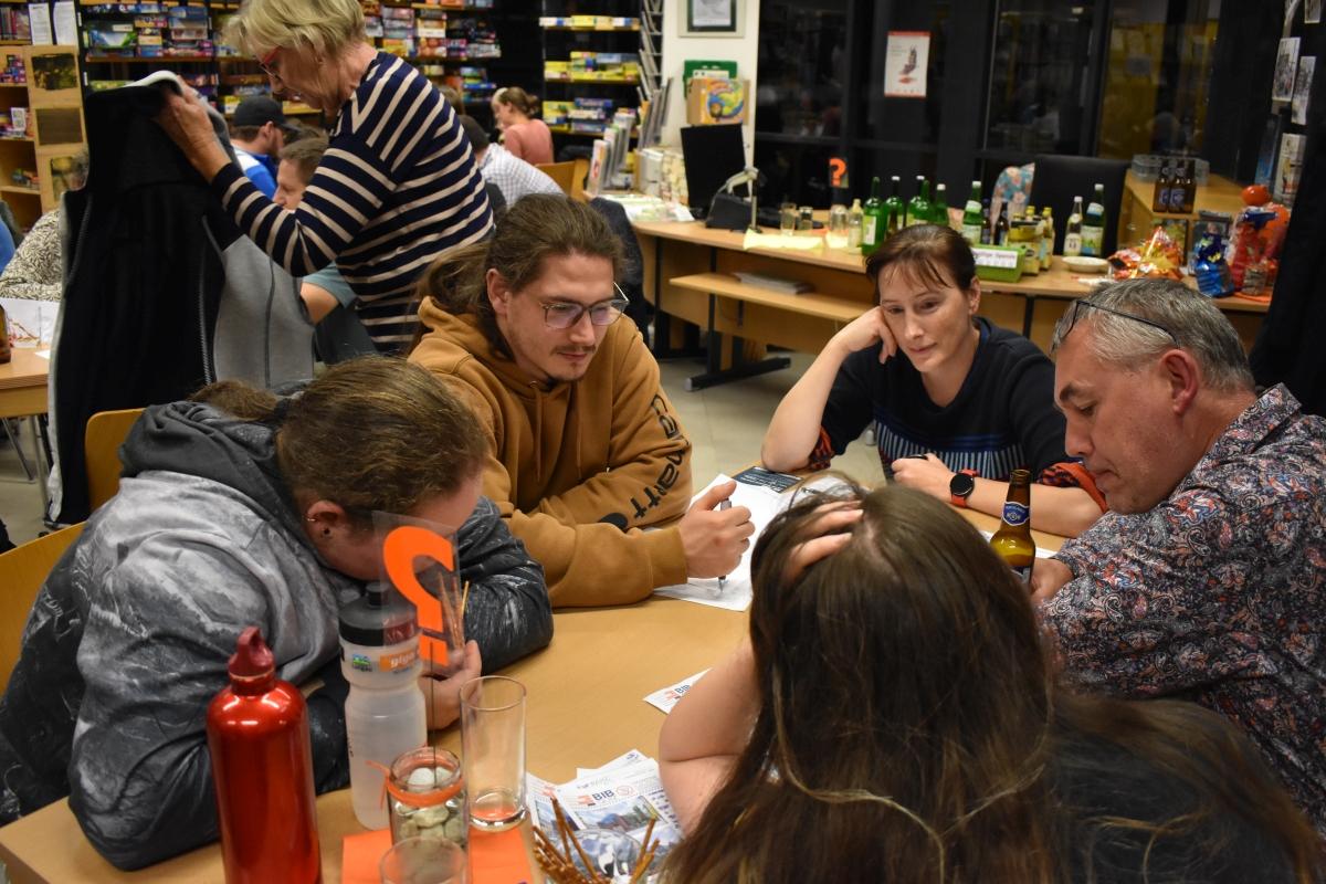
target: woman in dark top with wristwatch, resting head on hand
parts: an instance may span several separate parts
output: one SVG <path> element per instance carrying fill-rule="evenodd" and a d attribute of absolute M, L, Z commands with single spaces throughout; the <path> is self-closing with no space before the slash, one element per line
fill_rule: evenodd
<path fill-rule="evenodd" d="M 981 284 L 955 231 L 922 224 L 866 262 L 879 306 L 838 331 L 774 411 L 760 456 L 776 470 L 827 465 L 874 424 L 884 474 L 998 516 L 1026 467 L 1032 526 L 1073 535 L 1105 509 L 1063 452 L 1054 364 L 976 315 Z"/>

